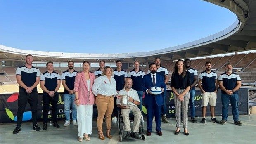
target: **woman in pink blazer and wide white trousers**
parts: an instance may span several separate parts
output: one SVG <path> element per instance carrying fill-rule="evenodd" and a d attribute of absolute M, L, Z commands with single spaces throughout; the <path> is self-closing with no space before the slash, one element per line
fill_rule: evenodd
<path fill-rule="evenodd" d="M 92 111 L 95 97 L 92 93 L 92 85 L 95 74 L 90 72 L 90 63 L 83 61 L 83 71 L 76 74 L 74 90 L 77 109 L 78 141 L 89 141 L 92 133 Z"/>

